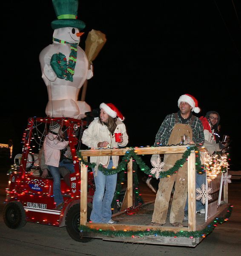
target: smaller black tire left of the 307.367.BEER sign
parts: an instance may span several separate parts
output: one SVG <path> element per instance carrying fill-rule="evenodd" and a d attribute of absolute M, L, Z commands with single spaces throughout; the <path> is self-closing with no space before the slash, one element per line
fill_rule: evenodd
<path fill-rule="evenodd" d="M 5 205 L 3 208 L 3 220 L 7 227 L 19 229 L 26 224 L 26 215 L 23 205 L 14 201 Z"/>

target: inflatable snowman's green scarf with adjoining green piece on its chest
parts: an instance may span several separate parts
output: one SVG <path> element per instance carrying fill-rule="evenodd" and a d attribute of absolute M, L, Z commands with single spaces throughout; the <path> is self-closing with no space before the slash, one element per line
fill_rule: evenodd
<path fill-rule="evenodd" d="M 52 55 L 50 65 L 58 78 L 73 81 L 78 44 L 71 44 L 57 38 L 53 38 L 53 41 L 59 42 L 60 44 L 70 44 L 69 63 L 67 63 L 66 56 L 59 52 Z"/>

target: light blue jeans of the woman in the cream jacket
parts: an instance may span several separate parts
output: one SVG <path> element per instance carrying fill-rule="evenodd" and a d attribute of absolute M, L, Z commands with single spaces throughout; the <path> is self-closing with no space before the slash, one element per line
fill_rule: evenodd
<path fill-rule="evenodd" d="M 112 159 L 110 159 L 108 168 L 112 166 Z M 90 220 L 95 223 L 107 223 L 112 216 L 111 203 L 115 195 L 117 173 L 113 175 L 103 175 L 103 173 L 98 170 L 94 180 L 95 194 L 93 197 Z"/>

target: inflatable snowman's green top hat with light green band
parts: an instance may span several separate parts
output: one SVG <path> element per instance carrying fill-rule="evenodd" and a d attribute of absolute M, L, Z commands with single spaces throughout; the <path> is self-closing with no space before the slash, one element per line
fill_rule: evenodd
<path fill-rule="evenodd" d="M 73 27 L 84 29 L 85 23 L 77 20 L 78 0 L 52 0 L 57 20 L 51 22 L 52 29 Z"/>

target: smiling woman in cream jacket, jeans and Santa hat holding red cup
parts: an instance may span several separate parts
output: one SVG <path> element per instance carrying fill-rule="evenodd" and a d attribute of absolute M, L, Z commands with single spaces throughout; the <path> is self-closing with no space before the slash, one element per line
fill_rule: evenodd
<path fill-rule="evenodd" d="M 118 118 L 117 118 L 118 117 Z M 128 143 L 124 117 L 112 103 L 100 104 L 100 117 L 95 118 L 88 129 L 83 132 L 82 143 L 91 148 L 118 148 Z M 120 142 L 115 141 L 115 132 L 120 132 Z M 116 223 L 111 219 L 111 203 L 114 198 L 117 174 L 104 175 L 98 171 L 99 164 L 110 169 L 118 166 L 119 156 L 90 157 L 91 163 L 96 163 L 93 170 L 95 194 L 90 220 L 95 223 Z"/>

